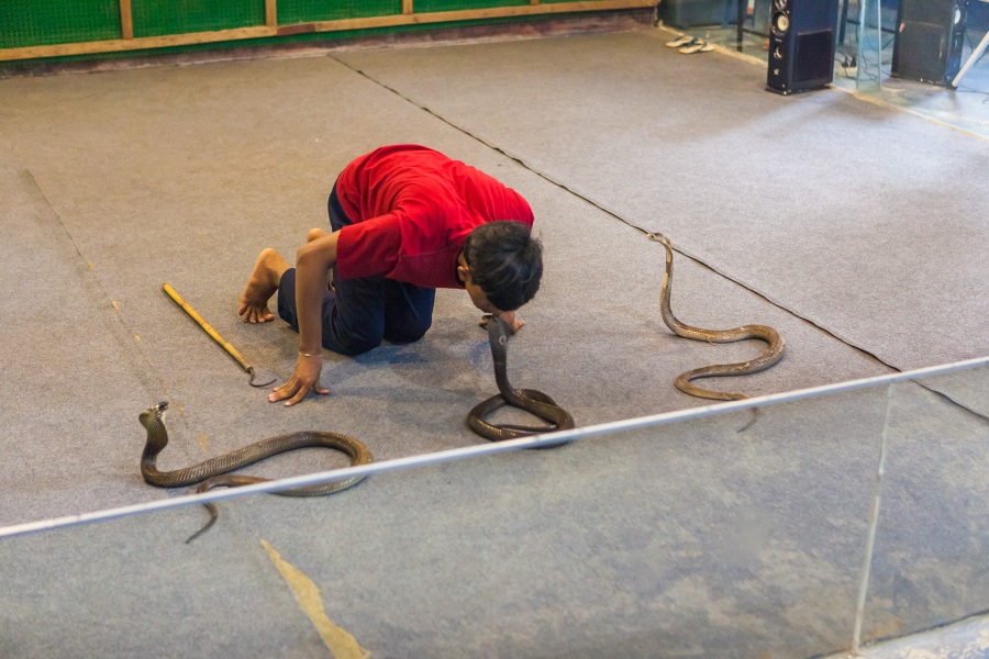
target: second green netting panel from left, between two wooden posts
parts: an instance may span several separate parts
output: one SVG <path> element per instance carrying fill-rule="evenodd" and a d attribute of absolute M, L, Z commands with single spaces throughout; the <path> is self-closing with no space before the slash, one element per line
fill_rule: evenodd
<path fill-rule="evenodd" d="M 264 0 L 132 0 L 134 36 L 212 32 L 265 24 Z"/>

